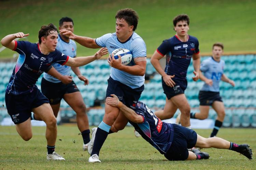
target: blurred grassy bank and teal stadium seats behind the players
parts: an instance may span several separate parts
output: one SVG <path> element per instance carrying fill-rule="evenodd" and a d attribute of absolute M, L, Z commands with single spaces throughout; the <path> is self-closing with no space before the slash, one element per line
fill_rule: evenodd
<path fill-rule="evenodd" d="M 224 44 L 226 62 L 224 73 L 235 81 L 236 86 L 221 82 L 221 96 L 226 107 L 224 127 L 256 127 L 256 1 L 253 0 L 1 0 L 0 38 L 16 32 L 29 33 L 26 39 L 38 41 L 38 31 L 44 24 L 54 23 L 58 27 L 61 17 L 71 17 L 74 33 L 97 38 L 105 33 L 115 32 L 115 14 L 121 8 L 133 8 L 140 20 L 136 32 L 147 46 L 147 68 L 145 90 L 141 101 L 154 111 L 165 105 L 165 94 L 161 76 L 150 63 L 150 57 L 162 40 L 172 37 L 172 19 L 178 14 L 190 17 L 189 35 L 199 40 L 201 61 L 211 56 L 212 45 Z M 92 55 L 97 49 L 88 49 L 77 44 L 77 56 Z M 0 122 L 12 124 L 7 118 L 4 95 L 18 54 L 0 45 Z M 165 65 L 165 58 L 161 61 Z M 191 111 L 199 111 L 198 92 L 203 82 L 193 82 L 193 66 L 188 68 L 188 87 L 185 91 Z M 110 67 L 106 58 L 80 67 L 90 84 L 83 85 L 73 72 L 74 82 L 82 92 L 88 108 L 90 125 L 98 125 L 104 115 L 104 99 Z M 41 78 L 37 85 L 40 89 Z M 75 112 L 65 101 L 61 101 L 59 123 L 75 122 Z M 174 115 L 176 117 L 176 114 Z M 211 109 L 209 120 L 216 113 Z M 205 124 L 211 128 L 209 122 Z M 212 122 L 210 122 L 212 123 Z M 193 128 L 193 122 L 191 122 Z"/>

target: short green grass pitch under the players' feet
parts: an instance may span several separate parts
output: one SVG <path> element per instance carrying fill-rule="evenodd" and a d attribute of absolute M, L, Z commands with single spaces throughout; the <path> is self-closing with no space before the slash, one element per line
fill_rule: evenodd
<path fill-rule="evenodd" d="M 32 139 L 23 141 L 14 126 L 0 126 L 1 169 L 256 169 L 255 159 L 250 161 L 237 152 L 220 149 L 203 149 L 210 153 L 208 160 L 168 161 L 141 137 L 136 138 L 132 127 L 109 135 L 100 152 L 101 163 L 89 164 L 89 155 L 82 150 L 82 137 L 76 125 L 60 125 L 56 152 L 66 161 L 47 161 L 45 127 L 32 129 Z M 204 137 L 211 132 L 196 131 Z M 218 136 L 256 148 L 255 129 L 222 128 Z"/>

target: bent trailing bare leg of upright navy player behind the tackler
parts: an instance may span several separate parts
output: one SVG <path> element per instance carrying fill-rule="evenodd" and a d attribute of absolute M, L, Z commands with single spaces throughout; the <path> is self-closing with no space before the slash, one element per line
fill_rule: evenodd
<path fill-rule="evenodd" d="M 165 107 L 163 110 L 156 111 L 155 115 L 161 120 L 170 119 L 173 117 L 177 109 L 178 107 L 172 102 L 172 100 L 168 100 L 166 98 Z"/>

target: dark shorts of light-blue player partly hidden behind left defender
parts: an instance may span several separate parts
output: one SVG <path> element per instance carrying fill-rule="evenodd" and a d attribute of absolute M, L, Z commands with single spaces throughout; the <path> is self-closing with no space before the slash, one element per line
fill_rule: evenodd
<path fill-rule="evenodd" d="M 41 90 L 44 96 L 49 99 L 50 104 L 58 104 L 65 94 L 79 91 L 73 81 L 69 84 L 53 83 L 44 78 L 42 78 Z"/>

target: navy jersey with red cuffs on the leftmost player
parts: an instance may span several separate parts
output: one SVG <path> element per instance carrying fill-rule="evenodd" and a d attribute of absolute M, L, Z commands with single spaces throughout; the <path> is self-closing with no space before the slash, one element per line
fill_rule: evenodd
<path fill-rule="evenodd" d="M 13 95 L 26 94 L 37 88 L 35 83 L 40 75 L 53 63 L 64 65 L 69 56 L 55 50 L 44 55 L 39 44 L 15 41 L 14 51 L 19 53 L 6 92 Z"/>

